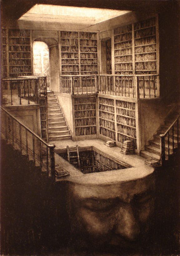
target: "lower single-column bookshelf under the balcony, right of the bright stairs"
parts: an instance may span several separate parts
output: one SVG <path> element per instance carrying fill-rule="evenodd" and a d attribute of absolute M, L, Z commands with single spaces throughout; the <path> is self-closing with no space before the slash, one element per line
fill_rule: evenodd
<path fill-rule="evenodd" d="M 96 97 L 74 98 L 75 136 L 96 137 Z"/>

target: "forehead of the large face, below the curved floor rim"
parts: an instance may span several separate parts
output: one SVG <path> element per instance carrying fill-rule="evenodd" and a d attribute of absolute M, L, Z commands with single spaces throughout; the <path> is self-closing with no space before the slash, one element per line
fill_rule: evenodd
<path fill-rule="evenodd" d="M 154 189 L 154 178 L 152 175 L 144 179 L 132 180 L 128 182 L 119 182 L 112 184 L 76 184 L 69 183 L 69 193 L 72 199 L 86 198 L 132 198 L 135 194 L 143 193 Z"/>

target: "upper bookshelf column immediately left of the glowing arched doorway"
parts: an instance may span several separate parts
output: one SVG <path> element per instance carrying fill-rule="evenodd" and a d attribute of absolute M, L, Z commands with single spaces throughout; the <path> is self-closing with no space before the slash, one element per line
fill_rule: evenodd
<path fill-rule="evenodd" d="M 9 76 L 32 75 L 30 30 L 9 29 Z"/>

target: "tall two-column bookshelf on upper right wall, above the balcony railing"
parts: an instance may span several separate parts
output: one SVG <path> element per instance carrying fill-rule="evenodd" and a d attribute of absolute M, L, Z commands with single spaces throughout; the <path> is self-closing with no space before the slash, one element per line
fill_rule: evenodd
<path fill-rule="evenodd" d="M 114 29 L 115 74 L 158 73 L 157 27 L 153 17 Z"/>

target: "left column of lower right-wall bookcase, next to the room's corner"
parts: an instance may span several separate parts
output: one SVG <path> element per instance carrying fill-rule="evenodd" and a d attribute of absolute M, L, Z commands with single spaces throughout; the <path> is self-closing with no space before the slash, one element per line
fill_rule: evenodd
<path fill-rule="evenodd" d="M 107 138 L 115 140 L 115 114 L 114 100 L 98 98 L 99 108 L 99 133 Z"/>

